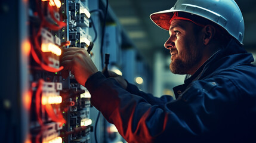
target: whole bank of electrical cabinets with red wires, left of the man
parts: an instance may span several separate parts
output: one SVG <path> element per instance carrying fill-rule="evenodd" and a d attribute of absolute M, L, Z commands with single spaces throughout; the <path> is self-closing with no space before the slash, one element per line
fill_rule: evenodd
<path fill-rule="evenodd" d="M 0 142 L 124 141 L 91 106 L 87 89 L 60 63 L 63 49 L 76 46 L 90 51 L 95 43 L 90 54 L 98 70 L 109 52 L 109 70 L 118 74 L 122 70 L 133 82 L 136 51 L 121 53 L 122 47 L 133 49 L 134 44 L 118 25 L 105 29 L 106 22 L 116 21 L 107 5 L 105 0 L 0 2 Z M 63 78 L 63 73 L 68 76 Z"/>

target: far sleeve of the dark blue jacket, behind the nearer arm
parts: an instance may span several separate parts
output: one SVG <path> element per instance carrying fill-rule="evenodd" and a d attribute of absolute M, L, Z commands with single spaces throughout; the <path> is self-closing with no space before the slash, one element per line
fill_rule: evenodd
<path fill-rule="evenodd" d="M 127 82 L 126 90 L 131 94 L 138 95 L 138 96 L 144 98 L 144 100 L 149 102 L 149 104 L 151 104 L 151 105 L 164 105 L 164 104 L 166 104 L 166 102 L 173 100 L 173 98 L 170 95 L 163 95 L 160 98 L 154 97 L 152 94 L 147 94 L 143 91 L 140 91 L 140 89 L 138 89 L 137 86 L 132 85 L 129 82 Z"/>

